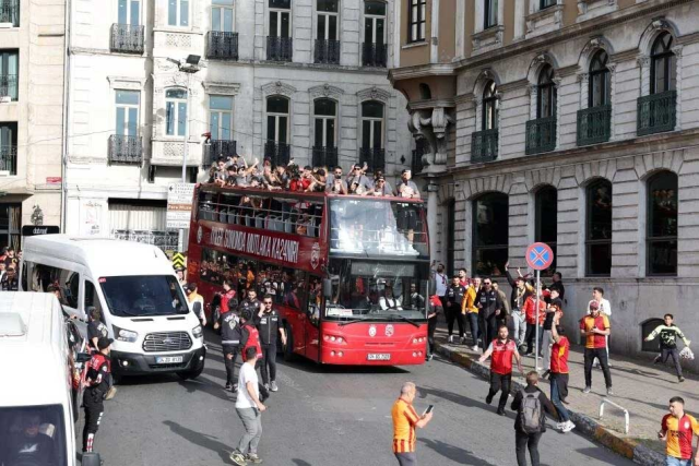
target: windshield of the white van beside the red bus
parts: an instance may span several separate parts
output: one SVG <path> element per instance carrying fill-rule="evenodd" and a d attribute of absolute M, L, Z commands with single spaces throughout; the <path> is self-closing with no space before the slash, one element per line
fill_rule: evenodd
<path fill-rule="evenodd" d="M 129 275 L 99 278 L 111 315 L 173 315 L 189 312 L 177 278 L 170 275 Z"/>

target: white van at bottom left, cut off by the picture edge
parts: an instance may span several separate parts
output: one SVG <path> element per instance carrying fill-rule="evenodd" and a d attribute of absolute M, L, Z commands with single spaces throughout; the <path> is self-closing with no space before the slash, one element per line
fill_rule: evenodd
<path fill-rule="evenodd" d="M 54 295 L 0 292 L 0 465 L 75 465 L 72 358 Z"/>

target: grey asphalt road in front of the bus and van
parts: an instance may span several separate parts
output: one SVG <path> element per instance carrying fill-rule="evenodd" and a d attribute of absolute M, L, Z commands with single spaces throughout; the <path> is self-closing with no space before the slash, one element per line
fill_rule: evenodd
<path fill-rule="evenodd" d="M 216 338 L 209 335 L 208 342 Z M 105 404 L 95 441 L 105 465 L 232 464 L 241 434 L 235 396 L 217 344 L 209 344 L 204 373 L 196 381 L 176 375 L 127 379 Z M 435 417 L 417 432 L 420 465 L 516 465 L 513 413 L 495 415 L 485 404 L 487 384 L 435 359 L 414 368 L 293 365 L 280 356 L 280 391 L 268 401 L 259 454 L 265 465 L 393 465 L 391 405 L 404 381 L 419 387 L 415 407 L 435 405 Z M 81 416 L 82 418 L 82 416 Z M 82 419 L 81 419 L 82 421 Z M 78 426 L 80 446 L 82 423 Z M 631 465 L 578 434 L 547 430 L 540 443 L 542 465 Z"/>

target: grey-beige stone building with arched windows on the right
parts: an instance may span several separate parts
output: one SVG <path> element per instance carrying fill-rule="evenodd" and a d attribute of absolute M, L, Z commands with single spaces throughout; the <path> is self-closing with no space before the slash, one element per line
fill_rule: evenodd
<path fill-rule="evenodd" d="M 404 0 L 390 79 L 426 147 L 435 259 L 498 276 L 544 241 L 570 330 L 601 286 L 614 351 L 652 354 L 665 312 L 698 335 L 697 20 L 680 0 Z"/>

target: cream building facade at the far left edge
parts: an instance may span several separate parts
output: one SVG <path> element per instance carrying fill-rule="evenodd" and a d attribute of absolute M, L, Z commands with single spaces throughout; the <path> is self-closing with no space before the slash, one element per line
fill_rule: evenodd
<path fill-rule="evenodd" d="M 64 1 L 0 2 L 0 248 L 61 223 Z"/>

